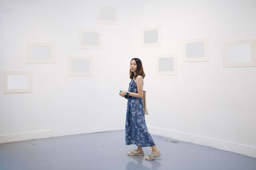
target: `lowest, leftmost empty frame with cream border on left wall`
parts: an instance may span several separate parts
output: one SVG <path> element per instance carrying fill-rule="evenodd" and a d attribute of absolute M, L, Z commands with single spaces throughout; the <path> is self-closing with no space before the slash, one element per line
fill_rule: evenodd
<path fill-rule="evenodd" d="M 33 72 L 3 71 L 4 93 L 33 92 Z"/>

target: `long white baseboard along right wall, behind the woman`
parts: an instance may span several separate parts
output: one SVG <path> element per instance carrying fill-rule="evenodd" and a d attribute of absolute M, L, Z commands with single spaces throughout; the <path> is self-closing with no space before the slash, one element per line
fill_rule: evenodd
<path fill-rule="evenodd" d="M 173 131 L 170 129 L 164 129 L 161 127 L 154 127 L 148 125 L 148 131 L 152 134 L 164 136 L 173 139 L 179 139 L 180 141 L 186 141 L 195 143 L 198 145 L 210 146 L 212 148 L 218 148 L 220 150 L 227 150 L 230 152 L 236 152 L 243 155 L 256 158 L 256 146 L 244 145 L 240 143 L 234 143 L 216 138 L 209 138 L 207 136 L 200 136 L 196 134 L 189 134 L 179 131 Z"/>

